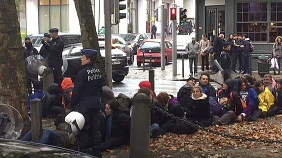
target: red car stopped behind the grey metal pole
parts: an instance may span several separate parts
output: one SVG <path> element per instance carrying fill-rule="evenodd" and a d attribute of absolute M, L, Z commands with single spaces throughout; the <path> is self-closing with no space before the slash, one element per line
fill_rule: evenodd
<path fill-rule="evenodd" d="M 172 44 L 168 41 L 164 41 L 164 56 L 165 65 L 172 62 Z M 146 39 L 137 51 L 137 66 L 140 67 L 143 63 L 143 53 L 145 63 L 150 63 L 150 56 L 152 56 L 152 64 L 160 66 L 160 39 Z"/>

